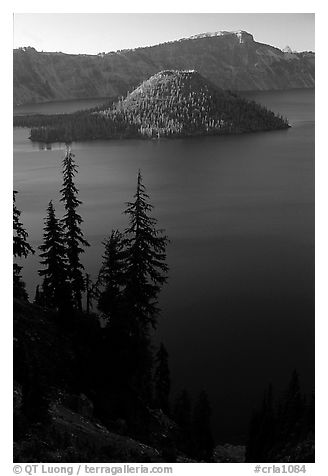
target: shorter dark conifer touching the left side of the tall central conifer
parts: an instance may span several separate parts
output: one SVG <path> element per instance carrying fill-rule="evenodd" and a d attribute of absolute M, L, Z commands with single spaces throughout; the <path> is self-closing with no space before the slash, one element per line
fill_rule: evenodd
<path fill-rule="evenodd" d="M 125 282 L 124 238 L 119 231 L 112 230 L 103 245 L 105 252 L 98 276 L 98 283 L 103 289 L 99 293 L 98 309 L 107 318 L 107 322 L 109 323 L 111 320 L 111 324 L 113 324 L 122 302 L 122 290 Z"/>

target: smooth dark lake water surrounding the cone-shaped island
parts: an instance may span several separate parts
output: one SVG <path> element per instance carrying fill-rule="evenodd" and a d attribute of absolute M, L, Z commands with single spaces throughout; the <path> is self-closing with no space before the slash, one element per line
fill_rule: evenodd
<path fill-rule="evenodd" d="M 73 144 L 91 243 L 83 262 L 94 277 L 102 240 L 127 226 L 122 211 L 141 169 L 171 239 L 156 339 L 169 351 L 173 393 L 206 389 L 216 437 L 232 443 L 243 441 L 269 382 L 281 392 L 294 368 L 304 390 L 314 379 L 314 91 L 248 96 L 287 116 L 292 128 Z M 68 112 L 65 104 L 41 109 Z M 27 129 L 14 130 L 17 202 L 35 248 L 49 200 L 62 214 L 63 155 L 63 145 L 40 150 Z M 38 261 L 24 261 L 32 298 Z"/>

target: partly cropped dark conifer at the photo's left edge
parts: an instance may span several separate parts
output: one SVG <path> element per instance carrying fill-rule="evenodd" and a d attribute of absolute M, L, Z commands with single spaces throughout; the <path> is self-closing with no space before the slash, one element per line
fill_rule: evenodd
<path fill-rule="evenodd" d="M 18 192 L 14 190 L 13 193 L 13 254 L 14 258 L 27 258 L 31 253 L 34 254 L 32 246 L 28 243 L 28 233 L 25 230 L 23 224 L 20 221 L 21 212 L 16 206 L 16 194 Z M 27 299 L 27 293 L 25 291 L 25 283 L 22 281 L 21 276 L 22 266 L 18 263 L 14 263 L 14 296 Z"/>

